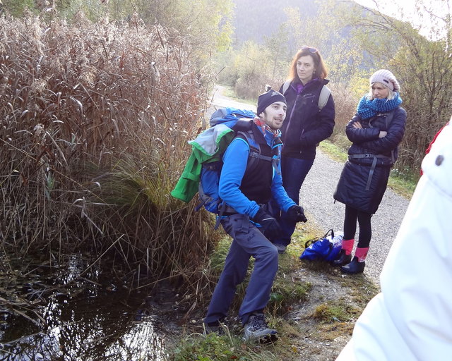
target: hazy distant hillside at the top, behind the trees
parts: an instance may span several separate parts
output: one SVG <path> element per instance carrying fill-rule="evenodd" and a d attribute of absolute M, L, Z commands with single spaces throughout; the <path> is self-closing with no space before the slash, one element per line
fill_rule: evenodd
<path fill-rule="evenodd" d="M 261 43 L 287 20 L 284 8 L 299 8 L 302 20 L 308 20 L 317 12 L 318 6 L 312 0 L 233 0 L 234 43 L 242 44 L 246 40 Z M 258 4 L 257 4 L 258 3 Z"/>

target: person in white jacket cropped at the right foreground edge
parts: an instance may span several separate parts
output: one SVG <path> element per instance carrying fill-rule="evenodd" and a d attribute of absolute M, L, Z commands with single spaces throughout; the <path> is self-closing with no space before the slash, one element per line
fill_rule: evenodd
<path fill-rule="evenodd" d="M 338 361 L 452 359 L 450 123 L 422 171 L 381 271 L 381 293 L 357 319 Z"/>

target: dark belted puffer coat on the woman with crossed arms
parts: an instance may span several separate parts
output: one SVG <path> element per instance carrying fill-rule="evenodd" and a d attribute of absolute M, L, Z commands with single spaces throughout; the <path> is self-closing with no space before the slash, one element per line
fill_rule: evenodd
<path fill-rule="evenodd" d="M 398 145 L 405 134 L 405 109 L 394 109 L 388 126 L 387 116 L 388 113 L 362 119 L 356 114 L 347 124 L 345 131 L 353 144 L 348 149 L 349 160 L 345 162 L 333 195 L 338 202 L 369 214 L 379 208 L 391 166 L 398 157 Z M 359 121 L 363 129 L 353 128 L 355 121 Z M 380 130 L 388 134 L 379 138 Z"/>

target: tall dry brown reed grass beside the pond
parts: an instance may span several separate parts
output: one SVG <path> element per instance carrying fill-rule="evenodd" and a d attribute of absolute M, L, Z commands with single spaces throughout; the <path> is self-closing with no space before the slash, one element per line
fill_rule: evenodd
<path fill-rule="evenodd" d="M 188 36 L 138 18 L 0 18 L 7 257 L 89 250 L 125 264 L 138 287 L 191 280 L 215 242 L 210 218 L 169 196 L 210 84 L 191 54 Z"/>

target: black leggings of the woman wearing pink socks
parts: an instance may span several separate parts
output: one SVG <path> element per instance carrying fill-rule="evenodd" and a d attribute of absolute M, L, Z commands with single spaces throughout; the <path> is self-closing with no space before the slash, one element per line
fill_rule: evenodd
<path fill-rule="evenodd" d="M 370 224 L 371 214 L 358 211 L 355 208 L 345 206 L 344 219 L 344 239 L 351 240 L 355 238 L 356 221 L 359 223 L 359 248 L 369 247 L 372 229 Z"/>

